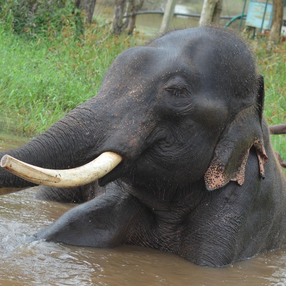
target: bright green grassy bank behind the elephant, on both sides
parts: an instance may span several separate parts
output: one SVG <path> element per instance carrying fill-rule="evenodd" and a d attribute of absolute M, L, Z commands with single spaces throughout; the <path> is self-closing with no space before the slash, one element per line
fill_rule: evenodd
<path fill-rule="evenodd" d="M 140 43 L 142 36 L 111 36 L 104 23 L 77 40 L 68 28 L 61 36 L 24 40 L 0 25 L 0 129 L 26 136 L 45 131 L 96 94 L 114 58 Z M 257 47 L 269 124 L 286 122 L 285 48 L 279 46 L 269 56 L 263 42 Z M 286 158 L 286 135 L 272 138 Z"/>

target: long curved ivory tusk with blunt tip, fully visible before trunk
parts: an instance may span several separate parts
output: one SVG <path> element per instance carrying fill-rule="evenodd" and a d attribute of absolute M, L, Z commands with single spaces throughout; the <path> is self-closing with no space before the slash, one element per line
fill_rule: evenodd
<path fill-rule="evenodd" d="M 57 188 L 83 186 L 102 178 L 114 169 L 122 157 L 104 152 L 93 161 L 74 169 L 51 170 L 21 162 L 9 155 L 3 156 L 0 165 L 9 172 L 35 184 Z"/>

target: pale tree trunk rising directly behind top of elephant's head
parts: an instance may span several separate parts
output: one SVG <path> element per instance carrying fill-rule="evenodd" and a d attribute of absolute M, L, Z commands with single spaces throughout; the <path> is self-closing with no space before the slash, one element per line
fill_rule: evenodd
<path fill-rule="evenodd" d="M 217 23 L 222 11 L 222 0 L 204 0 L 199 26 Z"/>

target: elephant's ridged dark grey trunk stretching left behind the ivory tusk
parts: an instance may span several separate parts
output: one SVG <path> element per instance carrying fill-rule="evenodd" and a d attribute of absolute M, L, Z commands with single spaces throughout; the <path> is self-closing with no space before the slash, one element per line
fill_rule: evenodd
<path fill-rule="evenodd" d="M 102 125 L 107 114 L 95 114 L 94 106 L 91 105 L 94 105 L 94 102 L 88 101 L 78 106 L 31 142 L 10 151 L 0 152 L 0 159 L 7 154 L 33 166 L 57 170 L 76 168 L 92 161 L 104 152 L 99 153 L 98 145 L 106 139 L 102 133 L 107 126 Z M 39 182 L 28 182 L 0 168 L 0 194 L 37 184 Z"/>

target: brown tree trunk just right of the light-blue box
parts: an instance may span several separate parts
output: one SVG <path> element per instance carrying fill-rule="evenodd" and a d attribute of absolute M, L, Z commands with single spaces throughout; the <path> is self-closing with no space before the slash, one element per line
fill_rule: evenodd
<path fill-rule="evenodd" d="M 283 0 L 273 0 L 273 18 L 269 32 L 269 45 L 279 40 L 283 18 Z M 272 43 L 271 43 L 272 42 Z"/>

